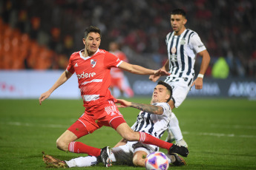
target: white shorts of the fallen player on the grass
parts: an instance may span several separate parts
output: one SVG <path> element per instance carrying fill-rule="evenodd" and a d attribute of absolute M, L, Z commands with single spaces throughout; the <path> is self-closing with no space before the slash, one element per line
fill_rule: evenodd
<path fill-rule="evenodd" d="M 159 151 L 159 147 L 135 141 L 128 142 L 123 146 L 118 146 L 112 149 L 112 152 L 116 157 L 116 163 L 129 166 L 134 165 L 132 160 L 134 157 L 134 153 L 137 151 L 144 151 L 147 154 L 151 154 L 152 152 Z"/>

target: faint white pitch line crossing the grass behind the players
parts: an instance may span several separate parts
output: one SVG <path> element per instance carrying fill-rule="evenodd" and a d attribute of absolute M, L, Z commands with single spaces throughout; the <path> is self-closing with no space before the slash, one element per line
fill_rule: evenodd
<path fill-rule="evenodd" d="M 8 122 L 5 123 L 12 126 L 39 126 L 47 128 L 68 128 L 67 125 L 60 124 L 33 124 L 33 123 L 21 123 L 21 122 Z M 104 130 L 112 130 L 110 128 Z M 184 135 L 197 135 L 197 136 L 216 136 L 216 137 L 243 137 L 243 138 L 256 138 L 256 135 L 234 135 L 234 134 L 223 134 L 223 133 L 207 133 L 207 132 L 183 132 Z"/>

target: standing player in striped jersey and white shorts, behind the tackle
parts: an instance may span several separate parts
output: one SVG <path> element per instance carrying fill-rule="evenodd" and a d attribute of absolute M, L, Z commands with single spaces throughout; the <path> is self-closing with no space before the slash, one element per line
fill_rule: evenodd
<path fill-rule="evenodd" d="M 210 55 L 206 50 L 199 35 L 193 30 L 186 29 L 187 22 L 186 13 L 182 9 L 176 9 L 171 12 L 171 27 L 174 30 L 166 35 L 166 45 L 168 51 L 168 61 L 166 61 L 163 69 L 170 72 L 171 75 L 165 79 L 173 89 L 173 96 L 169 105 L 171 109 L 177 108 L 185 100 L 191 86 L 195 85 L 196 89 L 203 88 L 203 75 L 209 66 Z M 194 62 L 196 56 L 200 55 L 202 59 L 200 72 L 197 78 L 194 78 Z M 157 81 L 160 76 L 151 75 L 151 81 Z M 180 130 L 179 121 L 174 113 L 168 126 L 168 137 L 166 141 L 172 142 L 176 140 L 176 144 L 188 147 Z"/>

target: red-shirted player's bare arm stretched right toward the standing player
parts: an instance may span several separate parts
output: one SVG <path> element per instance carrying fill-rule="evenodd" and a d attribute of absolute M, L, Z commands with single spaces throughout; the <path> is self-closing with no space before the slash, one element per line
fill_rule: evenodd
<path fill-rule="evenodd" d="M 119 68 L 137 75 L 170 75 L 163 69 L 146 69 L 145 67 L 141 67 L 138 65 L 128 64 L 125 61 L 122 61 L 122 63 L 119 65 Z"/>

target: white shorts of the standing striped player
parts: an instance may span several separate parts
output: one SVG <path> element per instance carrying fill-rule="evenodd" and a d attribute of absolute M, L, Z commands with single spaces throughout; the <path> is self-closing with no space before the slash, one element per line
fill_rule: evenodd
<path fill-rule="evenodd" d="M 166 83 L 172 88 L 172 100 L 174 101 L 174 106 L 177 108 L 186 99 L 191 86 L 188 86 L 188 83 L 184 82 L 183 78 L 181 78 L 180 81 Z"/>

